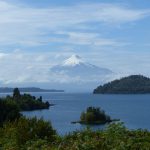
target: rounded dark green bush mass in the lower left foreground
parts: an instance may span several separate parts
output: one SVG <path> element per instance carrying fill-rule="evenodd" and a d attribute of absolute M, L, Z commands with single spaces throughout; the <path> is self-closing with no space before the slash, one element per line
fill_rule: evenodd
<path fill-rule="evenodd" d="M 21 117 L 0 128 L 0 149 L 20 150 L 43 147 L 56 141 L 56 131 L 43 119 Z"/>

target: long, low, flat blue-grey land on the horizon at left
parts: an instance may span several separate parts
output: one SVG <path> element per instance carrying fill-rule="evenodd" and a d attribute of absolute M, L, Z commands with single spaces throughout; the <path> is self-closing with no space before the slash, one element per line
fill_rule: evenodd
<path fill-rule="evenodd" d="M 14 88 L 10 87 L 0 87 L 0 93 L 11 93 Z M 64 90 L 55 90 L 55 89 L 41 89 L 36 87 L 25 87 L 19 88 L 20 92 L 64 92 Z"/>

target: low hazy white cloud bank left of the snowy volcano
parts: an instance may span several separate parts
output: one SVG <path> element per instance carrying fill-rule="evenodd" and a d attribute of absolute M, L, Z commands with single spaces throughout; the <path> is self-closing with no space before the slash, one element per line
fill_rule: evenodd
<path fill-rule="evenodd" d="M 26 83 L 64 83 L 73 80 L 65 74 L 54 74 L 50 68 L 59 62 L 57 52 L 32 53 L 15 50 L 0 53 L 1 85 Z M 63 53 L 62 53 L 63 54 Z M 60 53 L 61 55 L 61 53 Z M 63 54 L 64 55 L 64 54 Z M 63 56 L 62 55 L 62 56 Z M 65 55 L 64 55 L 65 56 Z M 74 82 L 75 82 L 74 78 Z"/>

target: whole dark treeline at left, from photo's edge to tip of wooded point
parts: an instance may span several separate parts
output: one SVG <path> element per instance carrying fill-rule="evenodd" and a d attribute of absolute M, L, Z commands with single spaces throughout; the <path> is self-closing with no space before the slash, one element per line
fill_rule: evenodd
<path fill-rule="evenodd" d="M 21 116 L 20 111 L 48 109 L 49 102 L 43 102 L 42 97 L 36 98 L 30 94 L 20 94 L 14 89 L 13 96 L 0 98 L 0 125 L 5 121 L 13 121 Z"/>

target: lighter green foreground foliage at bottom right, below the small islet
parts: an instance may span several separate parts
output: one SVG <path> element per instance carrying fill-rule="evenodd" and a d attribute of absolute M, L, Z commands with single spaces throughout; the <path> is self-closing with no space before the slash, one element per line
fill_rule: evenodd
<path fill-rule="evenodd" d="M 112 124 L 104 131 L 77 131 L 63 138 L 62 150 L 149 150 L 150 132 L 129 131 L 122 124 Z"/>

